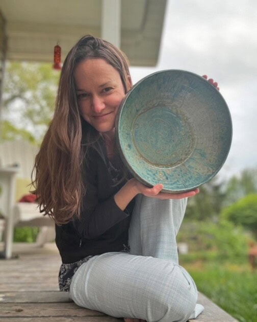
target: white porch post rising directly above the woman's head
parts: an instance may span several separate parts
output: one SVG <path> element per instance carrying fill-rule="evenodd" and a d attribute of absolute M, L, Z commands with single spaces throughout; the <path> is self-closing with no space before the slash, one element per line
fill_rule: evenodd
<path fill-rule="evenodd" d="M 101 38 L 120 47 L 120 0 L 102 0 Z"/>

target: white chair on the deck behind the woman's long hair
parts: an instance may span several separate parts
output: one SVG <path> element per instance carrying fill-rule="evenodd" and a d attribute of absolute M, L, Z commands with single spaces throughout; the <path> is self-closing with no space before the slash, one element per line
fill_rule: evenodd
<path fill-rule="evenodd" d="M 0 143 L 0 212 L 5 220 L 4 257 L 12 257 L 13 232 L 15 226 L 40 227 L 36 245 L 42 246 L 55 238 L 54 221 L 43 216 L 36 203 L 15 200 L 17 180 L 30 179 L 34 158 L 38 148 L 26 141 L 5 141 Z M 24 187 L 24 192 L 25 192 Z M 27 188 L 29 193 L 29 187 Z M 0 229 L 3 224 L 0 224 Z"/>

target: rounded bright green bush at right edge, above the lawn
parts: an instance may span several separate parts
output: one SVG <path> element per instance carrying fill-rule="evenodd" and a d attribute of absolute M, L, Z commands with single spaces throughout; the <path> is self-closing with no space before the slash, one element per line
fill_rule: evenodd
<path fill-rule="evenodd" d="M 257 194 L 247 195 L 222 210 L 221 218 L 249 229 L 257 238 Z"/>

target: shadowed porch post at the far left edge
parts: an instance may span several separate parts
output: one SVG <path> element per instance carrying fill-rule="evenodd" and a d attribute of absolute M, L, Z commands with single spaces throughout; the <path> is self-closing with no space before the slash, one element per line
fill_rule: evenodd
<path fill-rule="evenodd" d="M 6 21 L 0 11 L 0 140 L 2 139 L 2 91 L 7 51 Z"/>

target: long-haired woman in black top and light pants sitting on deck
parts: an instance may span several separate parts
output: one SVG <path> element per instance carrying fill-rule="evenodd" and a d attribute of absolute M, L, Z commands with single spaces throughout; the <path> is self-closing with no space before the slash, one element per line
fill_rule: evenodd
<path fill-rule="evenodd" d="M 197 290 L 178 265 L 175 236 L 199 190 L 163 193 L 126 173 L 114 123 L 131 86 L 114 45 L 93 36 L 75 44 L 36 157 L 35 193 L 56 222 L 60 289 L 76 304 L 127 321 L 186 321 Z"/>

